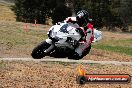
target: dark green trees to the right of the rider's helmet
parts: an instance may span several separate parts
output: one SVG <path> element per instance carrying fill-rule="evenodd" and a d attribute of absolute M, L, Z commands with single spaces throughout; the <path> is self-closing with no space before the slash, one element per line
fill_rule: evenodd
<path fill-rule="evenodd" d="M 128 31 L 128 23 L 132 21 L 131 0 L 74 0 L 73 3 L 75 12 L 85 9 L 91 13 L 94 26 Z"/>

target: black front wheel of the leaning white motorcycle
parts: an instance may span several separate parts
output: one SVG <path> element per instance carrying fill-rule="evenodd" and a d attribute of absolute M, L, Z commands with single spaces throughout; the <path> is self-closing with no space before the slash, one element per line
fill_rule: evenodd
<path fill-rule="evenodd" d="M 46 55 L 46 50 L 51 46 L 51 44 L 47 43 L 46 41 L 40 43 L 38 46 L 36 46 L 32 53 L 31 56 L 34 59 L 41 59 Z"/>

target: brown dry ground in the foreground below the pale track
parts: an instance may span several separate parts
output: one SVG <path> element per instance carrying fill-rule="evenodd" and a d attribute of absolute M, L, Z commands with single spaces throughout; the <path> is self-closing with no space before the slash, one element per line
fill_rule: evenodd
<path fill-rule="evenodd" d="M 76 84 L 79 64 L 1 61 L 0 87 L 9 88 L 130 88 L 129 84 Z M 89 74 L 130 74 L 132 66 L 85 64 Z"/>

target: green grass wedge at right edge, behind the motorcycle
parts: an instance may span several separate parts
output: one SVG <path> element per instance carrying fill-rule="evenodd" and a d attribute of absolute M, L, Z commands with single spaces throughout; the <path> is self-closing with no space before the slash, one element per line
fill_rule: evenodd
<path fill-rule="evenodd" d="M 93 47 L 132 56 L 132 39 L 101 41 L 95 43 Z"/>

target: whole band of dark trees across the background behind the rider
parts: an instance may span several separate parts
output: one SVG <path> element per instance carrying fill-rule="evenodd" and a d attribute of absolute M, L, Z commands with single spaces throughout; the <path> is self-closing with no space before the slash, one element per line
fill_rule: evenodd
<path fill-rule="evenodd" d="M 36 19 L 45 23 L 46 18 L 51 17 L 56 23 L 85 9 L 91 14 L 95 27 L 106 26 L 112 31 L 119 27 L 128 31 L 128 24 L 132 23 L 131 4 L 132 0 L 15 0 L 14 11 L 18 21 Z"/>

